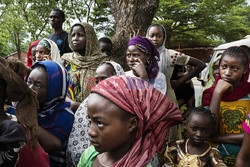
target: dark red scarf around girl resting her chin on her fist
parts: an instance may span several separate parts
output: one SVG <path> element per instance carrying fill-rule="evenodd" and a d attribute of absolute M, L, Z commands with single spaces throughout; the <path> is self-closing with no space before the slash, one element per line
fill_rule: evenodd
<path fill-rule="evenodd" d="M 220 60 L 220 63 L 221 63 L 221 60 Z M 219 63 L 219 66 L 220 66 L 220 63 Z M 250 69 L 249 69 L 249 62 L 248 62 L 247 72 L 244 75 L 242 75 L 240 83 L 232 91 L 225 92 L 222 95 L 222 98 L 221 98 L 222 101 L 225 101 L 225 102 L 236 101 L 236 100 L 239 100 L 242 97 L 244 97 L 250 93 L 250 83 L 247 81 L 248 77 L 249 77 L 249 71 L 250 71 Z M 221 79 L 220 74 L 216 78 L 213 86 L 203 92 L 202 106 L 209 106 L 210 105 L 214 89 L 215 89 L 219 79 Z"/>

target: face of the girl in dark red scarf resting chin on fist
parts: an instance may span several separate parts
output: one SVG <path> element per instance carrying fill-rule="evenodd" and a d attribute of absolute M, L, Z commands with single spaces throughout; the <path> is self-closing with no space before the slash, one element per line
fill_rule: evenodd
<path fill-rule="evenodd" d="M 245 73 L 246 70 L 240 58 L 223 56 L 220 64 L 220 75 L 223 80 L 236 87 Z"/>

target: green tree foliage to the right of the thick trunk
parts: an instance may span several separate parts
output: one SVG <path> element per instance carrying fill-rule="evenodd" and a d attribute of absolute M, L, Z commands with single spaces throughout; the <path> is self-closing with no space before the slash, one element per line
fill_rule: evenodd
<path fill-rule="evenodd" d="M 160 0 L 154 22 L 164 25 L 167 47 L 215 46 L 249 34 L 244 0 Z"/>

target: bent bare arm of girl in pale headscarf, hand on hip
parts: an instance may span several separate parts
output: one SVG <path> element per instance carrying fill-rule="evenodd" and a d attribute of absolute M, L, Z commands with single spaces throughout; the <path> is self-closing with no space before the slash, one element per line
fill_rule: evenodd
<path fill-rule="evenodd" d="M 188 61 L 188 65 L 193 66 L 194 68 L 190 72 L 188 72 L 187 75 L 184 75 L 183 77 L 181 77 L 180 79 L 176 81 L 172 81 L 171 85 L 173 89 L 179 87 L 181 84 L 190 80 L 191 78 L 199 74 L 206 67 L 205 63 L 193 57 L 190 57 Z"/>

